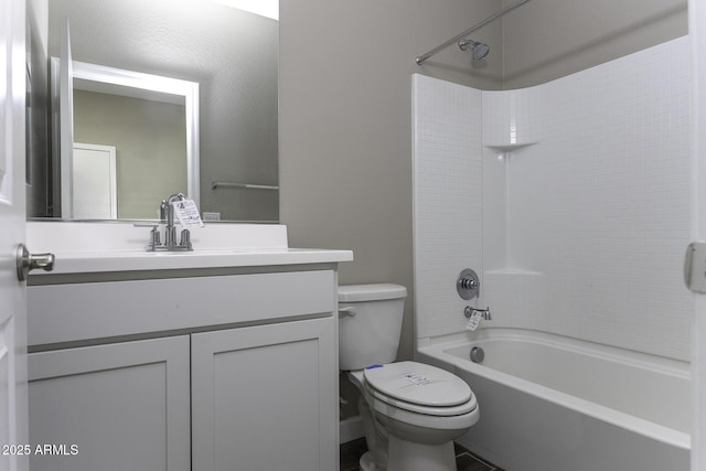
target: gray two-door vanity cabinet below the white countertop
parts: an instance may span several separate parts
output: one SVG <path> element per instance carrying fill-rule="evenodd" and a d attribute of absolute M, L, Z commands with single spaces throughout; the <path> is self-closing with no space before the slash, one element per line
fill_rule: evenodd
<path fill-rule="evenodd" d="M 279 269 L 30 286 L 32 469 L 336 470 L 335 266 Z"/>

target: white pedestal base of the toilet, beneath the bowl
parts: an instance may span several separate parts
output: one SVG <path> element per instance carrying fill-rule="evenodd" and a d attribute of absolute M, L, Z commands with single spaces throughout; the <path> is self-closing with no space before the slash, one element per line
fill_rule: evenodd
<path fill-rule="evenodd" d="M 387 471 L 457 471 L 453 442 L 422 445 L 388 437 Z"/>

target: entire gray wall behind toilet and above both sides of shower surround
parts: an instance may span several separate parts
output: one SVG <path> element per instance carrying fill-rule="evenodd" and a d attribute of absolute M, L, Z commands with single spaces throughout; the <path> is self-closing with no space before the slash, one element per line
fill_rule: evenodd
<path fill-rule="evenodd" d="M 498 1 L 280 0 L 280 217 L 290 244 L 353 249 L 341 283 L 411 288 L 410 75 L 532 85 L 686 34 L 685 6 L 533 0 L 473 34 L 492 47 L 473 69 L 457 47 L 421 67 L 414 57 Z M 399 356 L 410 357 L 411 299 L 405 315 Z"/>

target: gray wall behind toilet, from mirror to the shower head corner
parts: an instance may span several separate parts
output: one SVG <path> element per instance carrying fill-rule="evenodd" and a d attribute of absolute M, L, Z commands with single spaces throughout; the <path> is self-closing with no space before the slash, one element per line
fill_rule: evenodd
<path fill-rule="evenodd" d="M 499 88 L 500 23 L 473 38 L 496 45 L 484 68 L 449 47 L 415 57 L 490 15 L 495 0 L 280 1 L 280 217 L 291 246 L 353 249 L 341 283 L 409 289 L 411 332 L 411 78 L 424 72 Z"/>

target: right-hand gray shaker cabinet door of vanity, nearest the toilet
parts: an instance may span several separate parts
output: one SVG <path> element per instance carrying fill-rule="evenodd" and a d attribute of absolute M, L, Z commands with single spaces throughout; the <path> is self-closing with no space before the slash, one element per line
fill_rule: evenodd
<path fill-rule="evenodd" d="M 334 319 L 192 335 L 199 471 L 338 469 Z"/>

